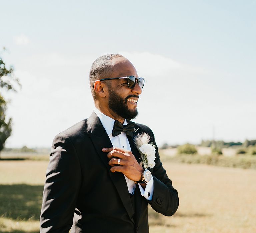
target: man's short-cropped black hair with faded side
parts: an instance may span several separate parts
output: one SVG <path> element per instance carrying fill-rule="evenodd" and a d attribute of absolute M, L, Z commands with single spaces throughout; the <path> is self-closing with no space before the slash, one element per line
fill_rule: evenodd
<path fill-rule="evenodd" d="M 123 57 L 120 54 L 106 54 L 97 58 L 91 66 L 90 70 L 90 88 L 92 92 L 93 99 L 95 100 L 95 91 L 94 91 L 94 83 L 98 79 L 110 78 L 109 76 L 113 72 L 113 65 L 111 64 L 111 60 L 113 58 Z"/>

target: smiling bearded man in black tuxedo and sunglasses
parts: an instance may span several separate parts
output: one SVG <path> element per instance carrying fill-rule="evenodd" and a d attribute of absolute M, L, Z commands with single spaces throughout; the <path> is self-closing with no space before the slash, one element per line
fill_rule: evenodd
<path fill-rule="evenodd" d="M 41 232 L 149 232 L 147 205 L 173 215 L 179 204 L 152 131 L 130 121 L 144 79 L 118 54 L 94 61 L 92 115 L 58 134 L 46 172 Z M 146 133 L 155 159 L 144 160 L 134 138 Z M 152 158 L 152 157 L 151 157 Z M 146 166 L 146 167 L 145 167 Z M 148 166 L 148 167 L 147 167 Z M 148 169 L 145 169 L 148 168 Z"/>

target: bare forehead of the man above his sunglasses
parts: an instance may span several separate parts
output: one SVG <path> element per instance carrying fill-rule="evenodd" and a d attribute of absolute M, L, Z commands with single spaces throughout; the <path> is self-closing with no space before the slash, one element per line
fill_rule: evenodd
<path fill-rule="evenodd" d="M 138 77 L 137 71 L 133 64 L 124 57 L 117 57 L 111 60 L 113 65 L 110 78 L 125 77 L 133 75 Z"/>

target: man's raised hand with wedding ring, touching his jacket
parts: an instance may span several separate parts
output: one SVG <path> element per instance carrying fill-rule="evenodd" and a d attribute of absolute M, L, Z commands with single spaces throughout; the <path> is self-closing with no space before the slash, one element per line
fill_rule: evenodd
<path fill-rule="evenodd" d="M 108 153 L 108 164 L 111 166 L 111 172 L 122 172 L 128 179 L 133 181 L 142 179 L 144 169 L 137 162 L 131 151 L 117 147 L 103 148 L 102 151 Z M 117 166 L 118 158 L 120 159 L 120 166 Z"/>

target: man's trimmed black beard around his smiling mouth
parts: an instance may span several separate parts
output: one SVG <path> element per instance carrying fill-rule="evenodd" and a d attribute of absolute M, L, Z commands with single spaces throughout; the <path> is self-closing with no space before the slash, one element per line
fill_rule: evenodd
<path fill-rule="evenodd" d="M 123 99 L 112 88 L 109 90 L 108 107 L 118 116 L 124 119 L 132 120 L 138 115 L 137 109 L 130 110 L 127 105 L 127 100 L 131 97 L 138 97 L 136 95 L 127 96 Z"/>

